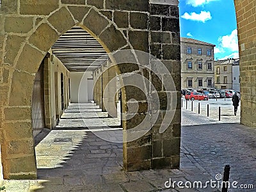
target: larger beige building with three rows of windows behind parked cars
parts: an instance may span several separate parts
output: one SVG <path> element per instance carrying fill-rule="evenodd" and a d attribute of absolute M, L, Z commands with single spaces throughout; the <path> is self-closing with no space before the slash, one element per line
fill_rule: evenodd
<path fill-rule="evenodd" d="M 214 86 L 214 46 L 192 38 L 180 38 L 182 89 Z"/>

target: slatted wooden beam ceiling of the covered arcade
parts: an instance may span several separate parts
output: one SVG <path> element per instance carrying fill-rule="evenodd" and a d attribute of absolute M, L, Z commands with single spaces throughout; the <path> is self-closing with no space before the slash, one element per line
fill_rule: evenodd
<path fill-rule="evenodd" d="M 99 42 L 80 27 L 61 35 L 52 52 L 69 71 L 93 71 L 109 59 Z"/>

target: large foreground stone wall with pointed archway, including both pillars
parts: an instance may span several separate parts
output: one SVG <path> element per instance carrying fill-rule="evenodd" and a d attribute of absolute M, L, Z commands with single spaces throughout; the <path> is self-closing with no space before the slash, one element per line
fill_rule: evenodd
<path fill-rule="evenodd" d="M 150 127 L 152 131 L 136 141 L 125 143 L 124 166 L 125 170 L 179 167 L 180 102 L 177 102 L 177 106 L 175 102 L 173 108 L 167 101 L 179 95 L 180 90 L 177 2 L 163 5 L 147 0 L 131 1 L 128 4 L 88 1 L 85 4 L 84 1 L 54 0 L 40 3 L 17 1 L 9 4 L 7 0 L 3 0 L 2 3 L 3 17 L 0 19 L 3 20 L 3 31 L 0 42 L 3 92 L 0 95 L 0 131 L 5 179 L 36 178 L 31 125 L 31 95 L 35 73 L 54 42 L 75 25 L 86 29 L 102 44 L 106 52 L 136 49 L 150 52 L 163 61 L 168 74 L 161 73 L 161 70 L 156 70 L 154 74 L 147 68 L 133 67 L 129 63 L 118 67 L 120 73 L 129 70 L 150 79 L 156 87 L 160 102 L 160 109 L 155 110 L 159 112 L 159 118 Z M 154 62 L 150 66 L 157 68 Z M 174 90 L 165 89 L 163 82 L 171 77 L 176 87 Z M 147 86 L 145 89 L 148 93 Z M 148 106 L 153 105 L 145 101 L 134 88 L 124 88 L 124 92 L 124 102 L 136 99 L 139 105 L 134 117 L 123 122 L 124 129 L 130 129 L 143 120 L 148 113 Z M 174 118 L 170 122 L 164 122 L 168 129 L 160 133 L 159 128 L 166 111 L 171 111 Z M 170 151 L 170 148 L 173 150 Z"/>

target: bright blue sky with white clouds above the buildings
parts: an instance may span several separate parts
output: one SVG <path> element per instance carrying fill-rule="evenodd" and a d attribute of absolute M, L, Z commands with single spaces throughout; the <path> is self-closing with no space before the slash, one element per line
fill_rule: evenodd
<path fill-rule="evenodd" d="M 180 36 L 216 45 L 214 59 L 239 58 L 234 0 L 180 0 Z"/>

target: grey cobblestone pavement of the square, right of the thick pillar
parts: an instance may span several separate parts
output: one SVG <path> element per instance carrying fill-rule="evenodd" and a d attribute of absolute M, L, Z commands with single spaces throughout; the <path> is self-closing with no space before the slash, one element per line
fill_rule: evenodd
<path fill-rule="evenodd" d="M 201 106 L 209 104 L 209 117 L 205 113 L 198 115 L 198 109 L 191 112 L 191 102 L 188 103 L 188 109 L 186 105 L 182 109 L 182 148 L 212 177 L 223 173 L 225 164 L 230 164 L 230 182 L 239 182 L 238 187 L 253 184 L 256 188 L 256 129 L 238 123 L 240 111 L 234 116 L 230 100 L 200 102 Z M 225 115 L 221 116 L 221 121 L 218 121 L 218 106 Z"/>

